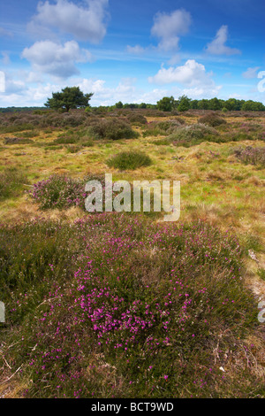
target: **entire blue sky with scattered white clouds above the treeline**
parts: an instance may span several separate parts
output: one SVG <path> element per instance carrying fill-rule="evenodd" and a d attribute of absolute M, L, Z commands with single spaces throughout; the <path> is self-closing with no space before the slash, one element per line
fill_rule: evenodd
<path fill-rule="evenodd" d="M 92 106 L 265 104 L 264 17 L 264 0 L 0 0 L 0 107 L 72 86 Z"/>

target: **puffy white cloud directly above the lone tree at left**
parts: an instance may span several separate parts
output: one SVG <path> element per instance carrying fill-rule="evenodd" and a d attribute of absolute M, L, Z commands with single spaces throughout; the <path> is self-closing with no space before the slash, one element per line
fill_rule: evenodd
<path fill-rule="evenodd" d="M 64 44 L 41 41 L 35 42 L 30 48 L 25 48 L 22 58 L 26 58 L 33 65 L 34 71 L 49 73 L 58 78 L 68 78 L 79 73 L 76 62 L 87 62 L 92 59 L 89 50 L 79 48 L 75 41 Z"/>

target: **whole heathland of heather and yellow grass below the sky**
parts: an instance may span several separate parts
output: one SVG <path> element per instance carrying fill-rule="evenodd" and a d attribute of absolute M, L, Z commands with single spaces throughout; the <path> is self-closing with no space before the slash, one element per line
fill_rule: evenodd
<path fill-rule="evenodd" d="M 216 100 L 0 114 L 0 397 L 264 397 L 265 112 Z M 86 212 L 104 173 L 180 220 Z"/>

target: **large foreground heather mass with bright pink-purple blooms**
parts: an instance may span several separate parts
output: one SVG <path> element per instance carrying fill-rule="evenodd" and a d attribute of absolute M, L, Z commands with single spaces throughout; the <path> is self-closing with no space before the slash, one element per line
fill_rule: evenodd
<path fill-rule="evenodd" d="M 4 358 L 10 362 L 12 357 L 17 368 L 23 366 L 20 377 L 33 381 L 26 397 L 261 395 L 261 377 L 250 372 L 256 365 L 252 351 L 241 341 L 257 320 L 234 237 L 200 222 L 159 225 L 136 216 L 99 214 L 67 226 L 72 233 L 67 252 L 66 225 L 27 227 L 19 259 L 14 255 L 19 236 L 11 256 L 8 246 L 23 232 L 19 226 L 1 229 L 3 263 L 13 279 L 8 320 L 24 310 L 19 330 L 8 340 L 15 344 L 4 349 Z M 27 239 L 29 234 L 37 241 Z M 64 249 L 56 248 L 60 239 Z M 65 263 L 68 274 L 60 280 L 59 250 L 66 250 L 72 265 Z M 29 253 L 39 253 L 42 262 L 38 265 Z M 39 273 L 34 289 L 27 274 L 19 279 L 16 264 L 25 273 Z M 49 282 L 46 291 L 42 280 Z M 27 296 L 21 286 L 13 291 L 23 283 Z M 33 307 L 31 295 L 39 285 L 42 294 Z"/>

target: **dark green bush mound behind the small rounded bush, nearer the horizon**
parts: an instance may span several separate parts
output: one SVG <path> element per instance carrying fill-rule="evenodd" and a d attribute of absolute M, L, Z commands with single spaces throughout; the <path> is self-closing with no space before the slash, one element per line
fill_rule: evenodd
<path fill-rule="evenodd" d="M 90 134 L 95 139 L 133 139 L 139 137 L 139 133 L 123 119 L 99 119 L 88 127 Z"/>

